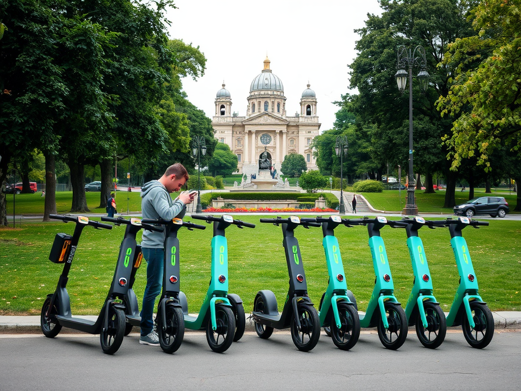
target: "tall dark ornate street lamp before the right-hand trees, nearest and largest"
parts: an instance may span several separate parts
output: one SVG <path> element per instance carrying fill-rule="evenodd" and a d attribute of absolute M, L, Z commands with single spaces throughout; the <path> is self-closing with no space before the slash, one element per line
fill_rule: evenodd
<path fill-rule="evenodd" d="M 408 72 L 405 68 L 408 68 Z M 398 59 L 396 68 L 398 71 L 394 77 L 400 92 L 405 91 L 407 78 L 409 79 L 409 179 L 407 187 L 407 203 L 405 204 L 404 213 L 406 215 L 417 215 L 418 205 L 414 199 L 414 172 L 413 172 L 413 68 L 419 68 L 416 79 L 420 84 L 422 91 L 427 89 L 429 83 L 429 73 L 426 70 L 427 60 L 425 58 L 425 49 L 418 45 L 411 54 L 411 49 L 404 45 L 398 46 Z"/>

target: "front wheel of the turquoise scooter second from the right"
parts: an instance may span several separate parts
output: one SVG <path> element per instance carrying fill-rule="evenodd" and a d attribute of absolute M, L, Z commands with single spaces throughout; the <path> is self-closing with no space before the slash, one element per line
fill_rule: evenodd
<path fill-rule="evenodd" d="M 445 314 L 438 304 L 429 301 L 424 302 L 424 310 L 427 317 L 427 328 L 423 326 L 418 313 L 416 318 L 416 335 L 421 345 L 429 349 L 436 349 L 445 339 L 447 331 Z"/>

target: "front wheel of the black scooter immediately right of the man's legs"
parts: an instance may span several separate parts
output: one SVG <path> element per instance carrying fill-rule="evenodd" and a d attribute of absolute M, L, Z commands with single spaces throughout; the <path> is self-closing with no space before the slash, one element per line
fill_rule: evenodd
<path fill-rule="evenodd" d="M 161 309 L 157 310 L 157 335 L 159 345 L 166 353 L 173 353 L 181 346 L 184 337 L 184 316 L 179 307 L 169 306 L 165 309 L 166 329 L 163 329 Z"/>

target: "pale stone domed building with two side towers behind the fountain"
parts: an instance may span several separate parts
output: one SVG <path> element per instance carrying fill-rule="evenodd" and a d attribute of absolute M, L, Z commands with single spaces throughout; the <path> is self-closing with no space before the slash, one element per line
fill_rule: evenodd
<path fill-rule="evenodd" d="M 284 156 L 290 153 L 300 153 L 308 169 L 318 169 L 309 146 L 320 128 L 315 91 L 307 84 L 300 100 L 300 114 L 287 116 L 284 85 L 269 66 L 270 60 L 266 57 L 264 69 L 250 84 L 244 117 L 232 114 L 231 94 L 222 84 L 216 94 L 212 119 L 215 137 L 228 144 L 237 155 L 242 174 L 258 173 L 258 162 L 265 147 L 279 173 Z"/>

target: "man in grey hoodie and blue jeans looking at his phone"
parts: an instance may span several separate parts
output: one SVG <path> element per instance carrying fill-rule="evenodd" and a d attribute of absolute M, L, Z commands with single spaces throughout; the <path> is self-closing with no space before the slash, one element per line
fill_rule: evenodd
<path fill-rule="evenodd" d="M 186 205 L 192 203 L 195 194 L 190 197 L 188 192 L 182 192 L 178 198 L 172 201 L 170 193 L 179 191 L 187 180 L 187 169 L 182 164 L 176 163 L 168 167 L 165 174 L 158 180 L 147 182 L 141 189 L 143 218 L 162 218 L 163 220 L 171 220 L 174 217 L 182 218 L 186 212 Z M 156 297 L 160 294 L 163 283 L 165 238 L 166 233 L 164 232 L 143 230 L 141 248 L 147 266 L 139 343 L 144 345 L 159 346 L 159 337 L 154 332 L 152 314 Z"/>

